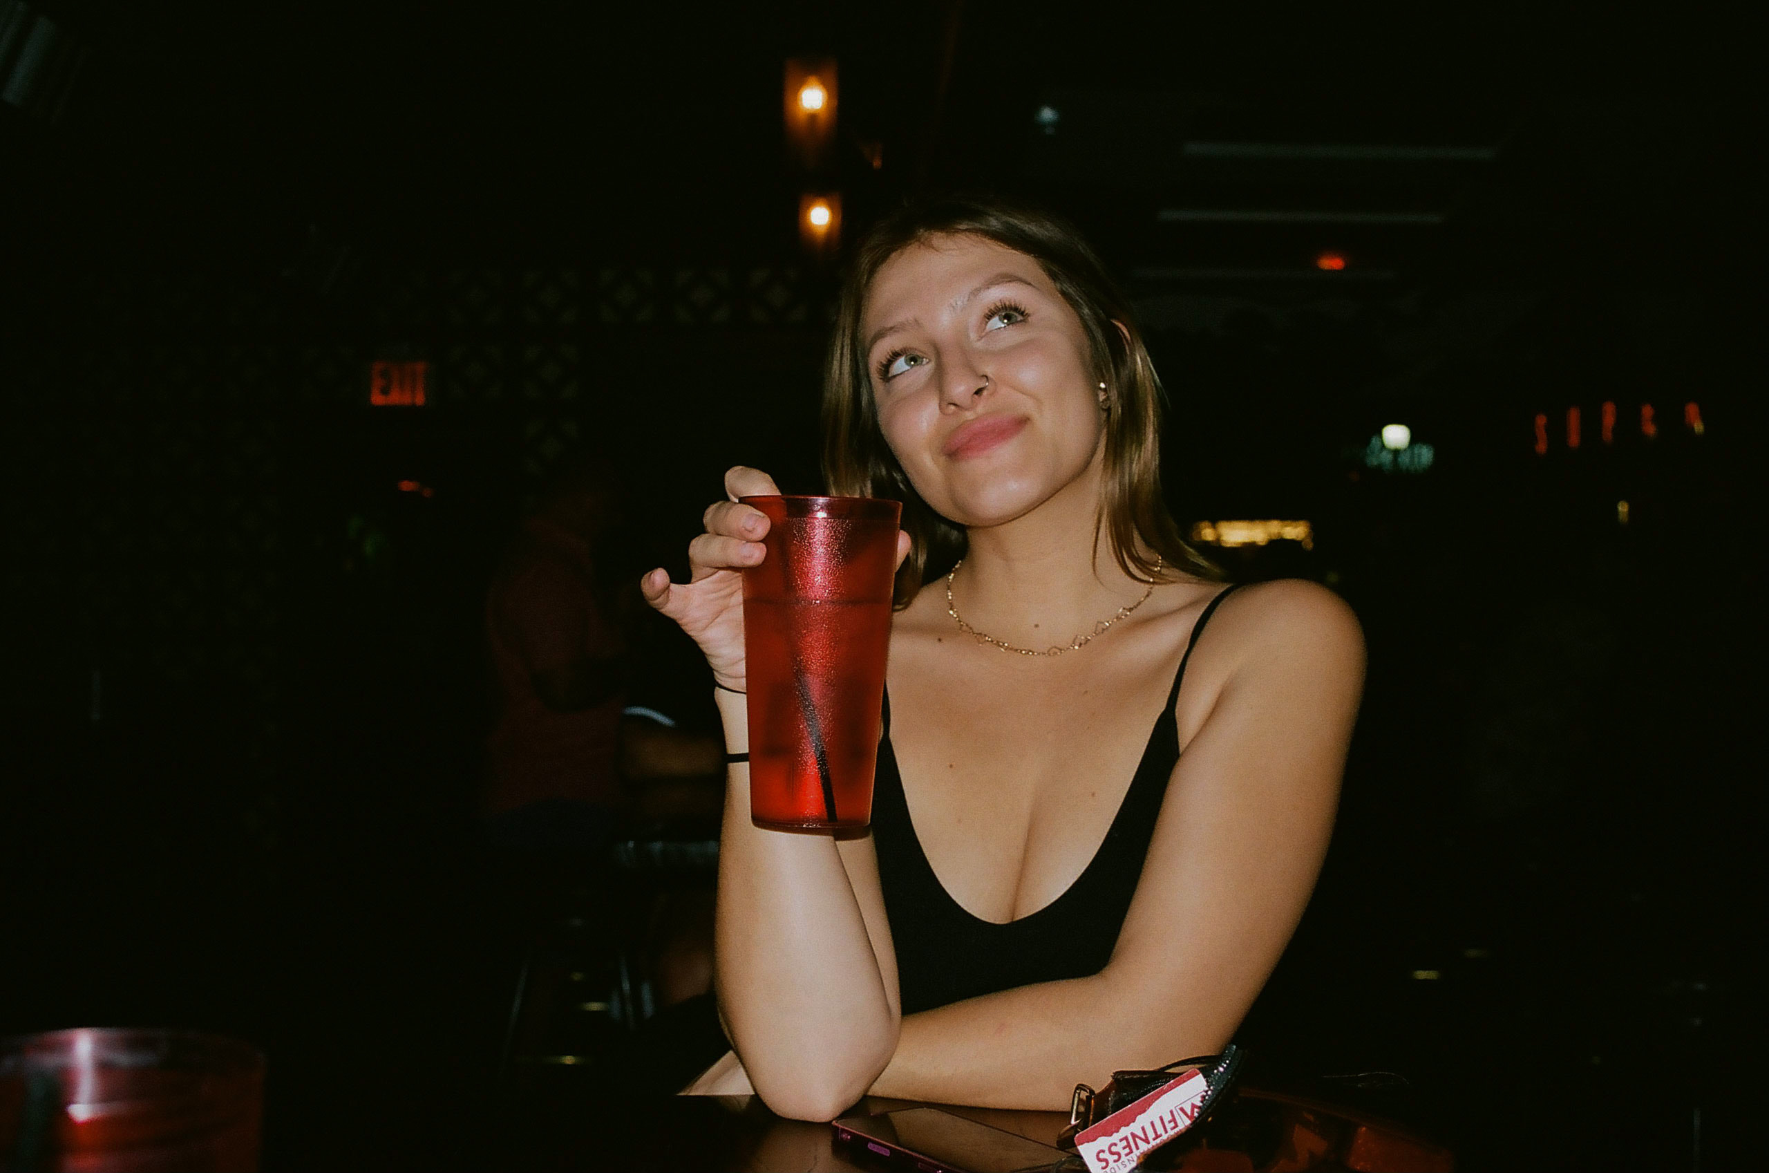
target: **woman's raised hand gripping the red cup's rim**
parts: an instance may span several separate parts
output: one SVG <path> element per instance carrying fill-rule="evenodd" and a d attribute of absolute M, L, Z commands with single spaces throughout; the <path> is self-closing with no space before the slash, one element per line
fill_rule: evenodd
<path fill-rule="evenodd" d="M 738 504 L 738 497 L 780 492 L 759 469 L 738 465 L 725 472 L 725 501 L 706 508 L 706 533 L 688 543 L 688 582 L 670 582 L 667 570 L 639 580 L 646 602 L 681 625 L 713 667 L 713 679 L 745 692 L 743 571 L 766 554 L 768 517 Z"/>

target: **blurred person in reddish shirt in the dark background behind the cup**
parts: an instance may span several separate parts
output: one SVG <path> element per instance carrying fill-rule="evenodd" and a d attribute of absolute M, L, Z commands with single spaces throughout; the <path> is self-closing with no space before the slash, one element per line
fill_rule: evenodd
<path fill-rule="evenodd" d="M 617 833 L 715 824 L 724 793 L 716 738 L 628 704 L 644 639 L 635 625 L 649 612 L 621 573 L 621 518 L 607 460 L 566 465 L 524 518 L 486 596 L 499 697 L 485 826 L 543 890 L 596 876 Z M 534 904 L 532 893 L 524 899 Z M 660 890 L 649 909 L 632 911 L 649 925 L 658 1005 L 709 991 L 711 888 Z"/>

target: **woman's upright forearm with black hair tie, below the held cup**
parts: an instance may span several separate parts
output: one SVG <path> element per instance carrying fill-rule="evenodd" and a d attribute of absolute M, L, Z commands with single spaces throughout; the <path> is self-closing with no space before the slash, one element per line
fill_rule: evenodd
<path fill-rule="evenodd" d="M 725 745 L 745 752 L 745 697 L 716 697 Z M 884 1069 L 897 1016 L 835 840 L 757 828 L 748 782 L 747 764 L 731 768 L 718 855 L 718 1003 L 762 1100 L 784 1116 L 828 1120 Z"/>

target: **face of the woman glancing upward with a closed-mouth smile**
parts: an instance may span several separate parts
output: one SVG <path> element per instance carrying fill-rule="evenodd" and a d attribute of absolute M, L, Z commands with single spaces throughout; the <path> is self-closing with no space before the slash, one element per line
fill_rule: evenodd
<path fill-rule="evenodd" d="M 1022 517 L 1102 451 L 1086 331 L 1031 257 L 973 235 L 913 244 L 872 280 L 862 331 L 884 441 L 953 522 Z"/>

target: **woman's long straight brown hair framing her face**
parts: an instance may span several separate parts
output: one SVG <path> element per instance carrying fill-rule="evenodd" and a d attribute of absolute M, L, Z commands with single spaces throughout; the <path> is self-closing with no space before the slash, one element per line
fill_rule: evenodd
<path fill-rule="evenodd" d="M 842 281 L 823 382 L 823 471 L 830 492 L 902 501 L 902 527 L 913 545 L 897 571 L 897 607 L 907 607 L 925 582 L 964 557 L 966 534 L 922 501 L 884 442 L 862 318 L 884 262 L 911 244 L 950 235 L 984 237 L 1031 257 L 1081 318 L 1093 379 L 1107 387 L 1106 485 L 1095 541 L 1104 529 L 1118 566 L 1139 582 L 1173 571 L 1219 580 L 1222 571 L 1180 536 L 1162 501 L 1160 380 L 1130 301 L 1106 265 L 1079 232 L 1049 212 L 989 196 L 946 196 L 893 212 L 862 241 Z"/>

